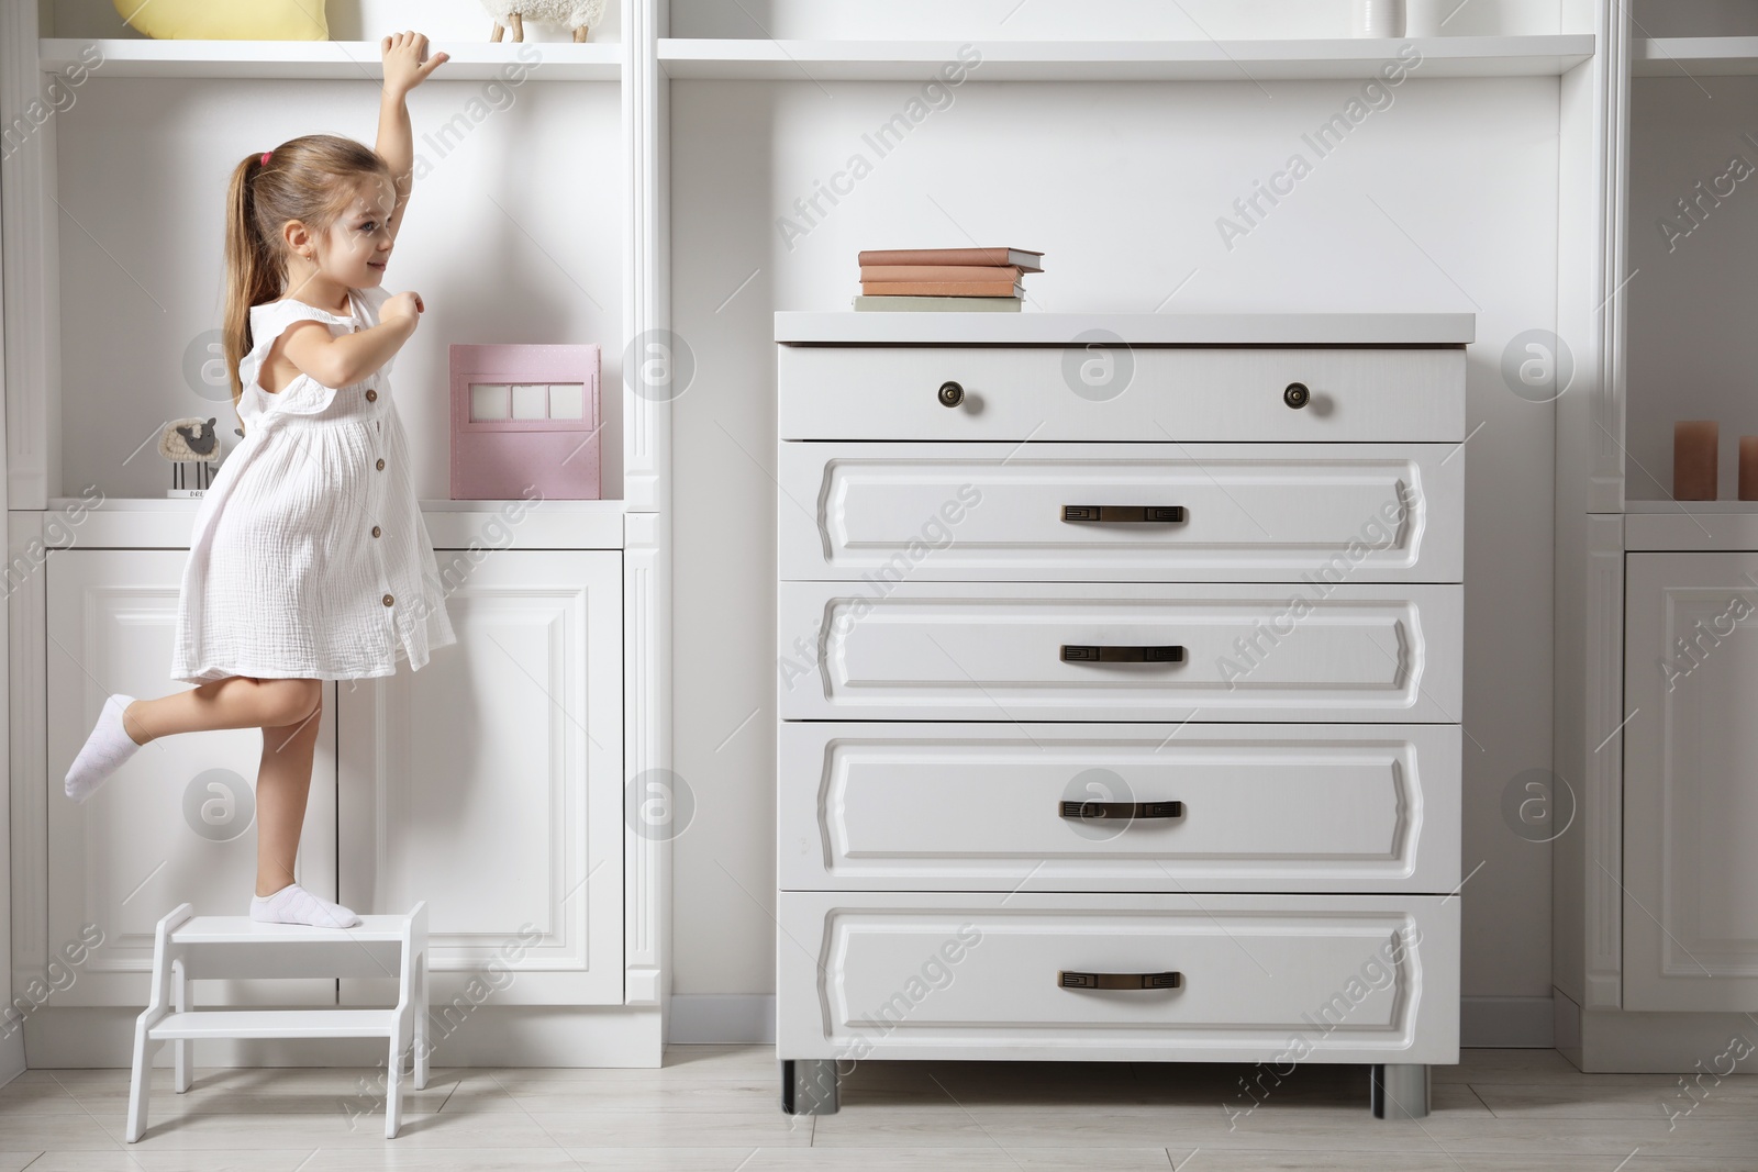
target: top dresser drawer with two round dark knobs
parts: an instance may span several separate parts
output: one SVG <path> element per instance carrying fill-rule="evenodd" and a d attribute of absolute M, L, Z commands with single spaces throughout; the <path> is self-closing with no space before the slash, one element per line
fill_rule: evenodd
<path fill-rule="evenodd" d="M 1461 346 L 777 351 L 782 439 L 1464 441 Z M 1283 399 L 1292 383 L 1304 408 Z"/>

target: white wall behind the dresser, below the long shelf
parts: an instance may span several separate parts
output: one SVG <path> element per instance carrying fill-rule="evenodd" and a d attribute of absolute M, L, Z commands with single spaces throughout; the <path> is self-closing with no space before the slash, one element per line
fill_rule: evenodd
<path fill-rule="evenodd" d="M 1547 996 L 1549 847 L 1508 829 L 1501 794 L 1551 761 L 1554 413 L 1498 365 L 1515 334 L 1554 329 L 1558 83 L 1417 70 L 1327 158 L 1301 135 L 1352 83 L 969 83 L 789 248 L 777 216 L 872 156 L 863 132 L 914 91 L 673 84 L 673 316 L 698 360 L 673 439 L 675 766 L 698 801 L 675 991 L 774 989 L 770 315 L 846 309 L 861 248 L 977 242 L 1048 253 L 1028 311 L 1478 315 L 1463 720 L 1464 868 L 1484 866 L 1463 893 L 1464 991 Z M 1311 176 L 1229 251 L 1217 218 L 1296 151 Z"/>

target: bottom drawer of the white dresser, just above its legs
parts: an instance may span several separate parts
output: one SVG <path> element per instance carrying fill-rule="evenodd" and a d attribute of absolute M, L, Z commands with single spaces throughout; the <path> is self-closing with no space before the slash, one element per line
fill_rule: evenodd
<path fill-rule="evenodd" d="M 782 891 L 777 922 L 789 1058 L 1459 1060 L 1457 898 Z"/>

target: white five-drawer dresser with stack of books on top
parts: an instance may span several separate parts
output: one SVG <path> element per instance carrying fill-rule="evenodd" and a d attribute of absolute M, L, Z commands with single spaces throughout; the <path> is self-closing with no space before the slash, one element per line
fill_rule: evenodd
<path fill-rule="evenodd" d="M 779 313 L 777 1056 L 1459 1060 L 1470 315 Z"/>

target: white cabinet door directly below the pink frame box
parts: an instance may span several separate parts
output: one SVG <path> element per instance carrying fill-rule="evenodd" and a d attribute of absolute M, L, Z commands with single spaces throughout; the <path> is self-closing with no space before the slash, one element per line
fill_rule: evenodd
<path fill-rule="evenodd" d="M 440 561 L 457 645 L 341 685 L 341 900 L 427 901 L 436 1007 L 473 980 L 498 1005 L 621 1005 L 622 555 Z M 343 980 L 343 1003 L 385 995 Z"/>

